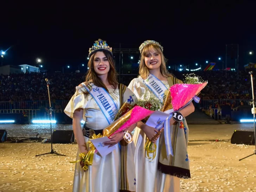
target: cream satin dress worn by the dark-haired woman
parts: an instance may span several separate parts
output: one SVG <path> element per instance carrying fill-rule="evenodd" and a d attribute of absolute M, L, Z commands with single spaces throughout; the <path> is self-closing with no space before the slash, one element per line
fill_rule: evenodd
<path fill-rule="evenodd" d="M 109 124 L 102 111 L 90 94 L 83 94 L 85 88 L 76 87 L 73 95 L 64 112 L 73 118 L 73 113 L 78 108 L 84 109 L 83 120 L 86 126 L 91 129 L 104 129 Z M 120 108 L 119 90 L 109 89 L 109 94 L 118 103 Z M 85 142 L 89 140 L 84 137 Z M 79 159 L 79 149 L 77 160 Z M 116 149 L 104 156 L 94 154 L 93 164 L 84 171 L 79 162 L 76 163 L 73 180 L 73 192 L 119 192 L 121 177 L 121 152 L 119 144 Z"/>

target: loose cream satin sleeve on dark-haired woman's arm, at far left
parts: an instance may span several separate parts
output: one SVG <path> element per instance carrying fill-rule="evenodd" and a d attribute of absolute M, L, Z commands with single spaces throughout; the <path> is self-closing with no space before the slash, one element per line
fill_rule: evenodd
<path fill-rule="evenodd" d="M 71 97 L 69 103 L 64 109 L 64 113 L 73 119 L 74 111 L 78 108 L 86 108 L 88 102 L 88 92 L 82 87 L 83 85 L 79 85 L 76 87 L 75 94 Z"/>

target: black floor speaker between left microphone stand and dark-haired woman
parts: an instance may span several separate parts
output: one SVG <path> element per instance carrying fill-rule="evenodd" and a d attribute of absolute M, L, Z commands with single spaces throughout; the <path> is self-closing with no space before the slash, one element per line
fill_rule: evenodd
<path fill-rule="evenodd" d="M 73 130 L 54 130 L 52 133 L 52 143 L 72 143 L 74 142 Z"/>

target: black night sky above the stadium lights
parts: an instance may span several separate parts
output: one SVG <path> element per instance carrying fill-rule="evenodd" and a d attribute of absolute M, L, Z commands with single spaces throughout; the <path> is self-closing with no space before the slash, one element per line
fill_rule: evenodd
<path fill-rule="evenodd" d="M 36 65 L 39 57 L 45 69 L 75 69 L 87 64 L 89 47 L 98 38 L 113 49 L 120 43 L 138 48 L 145 40 L 156 40 L 169 65 L 218 62 L 225 58 L 226 44 L 239 44 L 239 66 L 250 61 L 249 51 L 256 54 L 253 1 L 167 2 L 1 4 L 0 50 L 11 47 L 4 64 Z"/>

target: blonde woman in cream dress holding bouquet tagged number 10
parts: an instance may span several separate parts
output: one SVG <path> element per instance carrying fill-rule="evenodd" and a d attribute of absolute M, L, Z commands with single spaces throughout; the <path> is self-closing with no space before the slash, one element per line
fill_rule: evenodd
<path fill-rule="evenodd" d="M 167 71 L 163 47 L 158 42 L 147 40 L 140 45 L 139 50 L 141 53 L 140 76 L 133 79 L 128 88 L 138 99 L 150 101 L 154 98 L 153 101 L 157 100 L 163 106 L 169 87 L 182 83 L 182 81 Z M 179 112 L 186 117 L 193 111 L 194 105 L 190 103 Z M 185 118 L 183 123 L 187 126 Z M 180 178 L 190 178 L 187 158 L 188 128 L 186 127 L 186 132 L 185 129 L 181 130 L 179 128 L 181 123 L 175 123 L 173 118 L 170 119 L 169 124 L 174 124 L 173 135 L 171 135 L 174 155 L 166 154 L 165 137 L 161 134 L 159 138 L 153 140 L 156 144 L 156 156 L 152 160 L 145 156 L 145 142 L 147 137 L 152 140 L 159 129 L 149 127 L 143 122 L 137 123 L 133 140 L 135 143 L 136 191 L 138 192 L 179 192 Z"/>

